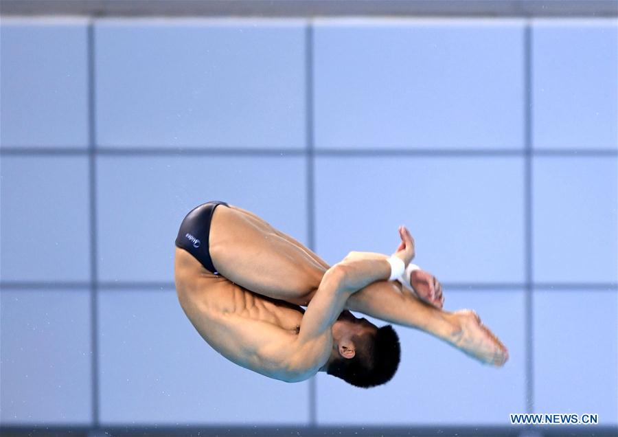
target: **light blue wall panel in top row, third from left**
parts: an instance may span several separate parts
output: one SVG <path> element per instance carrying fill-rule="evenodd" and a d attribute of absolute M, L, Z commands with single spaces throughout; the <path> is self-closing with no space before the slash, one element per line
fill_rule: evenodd
<path fill-rule="evenodd" d="M 319 21 L 316 145 L 522 148 L 523 56 L 518 21 Z"/>

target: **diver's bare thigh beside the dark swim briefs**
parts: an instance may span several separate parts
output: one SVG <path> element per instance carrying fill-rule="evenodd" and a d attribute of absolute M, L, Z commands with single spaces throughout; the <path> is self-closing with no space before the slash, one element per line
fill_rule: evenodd
<path fill-rule="evenodd" d="M 266 222 L 235 208 L 215 210 L 209 249 L 225 278 L 254 293 L 297 304 L 317 289 L 325 271 Z"/>

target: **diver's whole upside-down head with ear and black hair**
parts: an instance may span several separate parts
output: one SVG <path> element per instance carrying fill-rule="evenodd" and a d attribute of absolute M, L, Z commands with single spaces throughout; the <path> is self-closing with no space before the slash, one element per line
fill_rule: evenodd
<path fill-rule="evenodd" d="M 357 387 L 387 383 L 399 366 L 401 348 L 393 327 L 378 328 L 350 311 L 332 325 L 332 344 L 326 372 Z"/>

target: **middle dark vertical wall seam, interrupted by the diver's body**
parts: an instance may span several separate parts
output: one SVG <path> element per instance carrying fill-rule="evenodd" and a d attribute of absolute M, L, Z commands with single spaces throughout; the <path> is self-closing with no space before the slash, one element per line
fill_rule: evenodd
<path fill-rule="evenodd" d="M 313 23 L 305 29 L 305 135 L 307 165 L 307 244 L 315 251 L 315 177 L 313 144 Z M 317 377 L 309 381 L 309 426 L 317 426 Z"/>

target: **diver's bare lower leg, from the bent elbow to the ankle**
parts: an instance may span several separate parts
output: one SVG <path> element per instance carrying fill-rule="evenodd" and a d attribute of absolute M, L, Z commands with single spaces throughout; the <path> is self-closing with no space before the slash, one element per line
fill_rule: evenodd
<path fill-rule="evenodd" d="M 450 339 L 457 329 L 450 313 L 421 302 L 397 282 L 379 281 L 350 295 L 346 309 L 385 322 L 417 328 L 442 339 Z"/>

